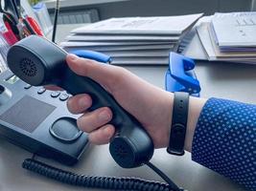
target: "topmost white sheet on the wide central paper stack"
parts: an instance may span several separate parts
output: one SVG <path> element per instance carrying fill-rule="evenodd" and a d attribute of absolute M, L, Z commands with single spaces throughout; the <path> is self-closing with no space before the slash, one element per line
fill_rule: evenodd
<path fill-rule="evenodd" d="M 161 16 L 111 18 L 76 29 L 74 33 L 181 34 L 188 30 L 202 13 Z"/>

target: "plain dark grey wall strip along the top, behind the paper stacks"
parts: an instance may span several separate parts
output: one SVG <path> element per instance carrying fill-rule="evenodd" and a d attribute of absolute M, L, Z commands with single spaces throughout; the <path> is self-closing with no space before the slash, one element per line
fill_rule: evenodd
<path fill-rule="evenodd" d="M 121 16 L 178 15 L 195 12 L 249 11 L 251 0 L 130 0 L 63 8 L 61 11 L 97 9 L 101 19 Z"/>

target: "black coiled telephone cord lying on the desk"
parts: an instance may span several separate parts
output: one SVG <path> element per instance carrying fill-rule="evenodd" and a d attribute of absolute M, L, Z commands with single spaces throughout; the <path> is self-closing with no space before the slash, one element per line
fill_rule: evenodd
<path fill-rule="evenodd" d="M 156 168 L 151 163 L 150 165 L 149 166 L 151 169 Z M 169 184 L 167 184 L 158 181 L 149 181 L 136 178 L 78 175 L 58 169 L 35 159 L 25 159 L 22 163 L 22 167 L 49 179 L 58 180 L 63 183 L 81 187 L 107 190 L 183 191 L 183 189 L 178 188 L 172 180 L 169 182 Z"/>

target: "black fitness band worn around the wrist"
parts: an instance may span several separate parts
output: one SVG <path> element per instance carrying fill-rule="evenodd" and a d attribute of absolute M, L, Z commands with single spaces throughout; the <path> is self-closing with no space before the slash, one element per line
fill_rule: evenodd
<path fill-rule="evenodd" d="M 176 156 L 184 155 L 184 144 L 187 129 L 189 94 L 175 93 L 172 128 L 167 152 Z"/>

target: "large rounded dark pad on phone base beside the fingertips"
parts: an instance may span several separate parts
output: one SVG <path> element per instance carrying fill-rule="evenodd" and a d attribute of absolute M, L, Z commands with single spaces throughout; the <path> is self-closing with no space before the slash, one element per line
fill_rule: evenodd
<path fill-rule="evenodd" d="M 72 117 L 61 117 L 50 127 L 50 134 L 64 142 L 73 142 L 81 137 L 82 132 L 77 127 L 77 120 Z"/>

